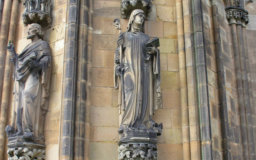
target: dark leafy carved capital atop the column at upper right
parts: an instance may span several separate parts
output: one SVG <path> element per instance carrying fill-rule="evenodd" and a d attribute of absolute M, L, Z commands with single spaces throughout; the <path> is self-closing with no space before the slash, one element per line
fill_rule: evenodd
<path fill-rule="evenodd" d="M 245 26 L 245 24 L 249 23 L 248 12 L 246 10 L 235 6 L 227 7 L 225 10 L 229 24 Z"/>

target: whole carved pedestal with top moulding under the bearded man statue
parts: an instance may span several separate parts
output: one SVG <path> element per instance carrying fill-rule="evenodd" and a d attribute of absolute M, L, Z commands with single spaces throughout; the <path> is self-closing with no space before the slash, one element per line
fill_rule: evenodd
<path fill-rule="evenodd" d="M 7 144 L 8 160 L 44 160 L 45 148 L 43 144 L 33 142 L 9 142 Z"/>

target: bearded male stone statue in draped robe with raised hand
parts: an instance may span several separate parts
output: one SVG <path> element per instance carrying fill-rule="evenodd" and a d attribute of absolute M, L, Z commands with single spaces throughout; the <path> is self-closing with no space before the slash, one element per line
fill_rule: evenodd
<path fill-rule="evenodd" d="M 39 24 L 30 24 L 28 44 L 20 54 L 9 43 L 11 62 L 14 64 L 14 110 L 12 126 L 6 126 L 11 142 L 44 144 L 44 116 L 48 111 L 51 75 L 51 55 L 48 42 Z M 9 147 L 9 146 L 8 146 Z M 10 147 L 9 147 L 10 148 Z"/>

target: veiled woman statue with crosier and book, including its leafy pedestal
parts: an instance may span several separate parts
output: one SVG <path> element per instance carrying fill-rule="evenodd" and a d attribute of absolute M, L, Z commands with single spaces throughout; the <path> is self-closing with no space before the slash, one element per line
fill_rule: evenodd
<path fill-rule="evenodd" d="M 114 86 L 119 89 L 122 117 L 119 160 L 156 160 L 156 137 L 162 134 L 162 123 L 152 118 L 160 100 L 160 44 L 144 33 L 145 17 L 143 10 L 133 10 L 124 33 L 120 20 L 113 22 L 120 33 L 114 54 Z"/>

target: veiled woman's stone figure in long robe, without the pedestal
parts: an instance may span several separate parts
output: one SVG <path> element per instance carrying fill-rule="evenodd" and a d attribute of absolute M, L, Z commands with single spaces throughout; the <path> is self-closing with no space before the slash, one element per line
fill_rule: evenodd
<path fill-rule="evenodd" d="M 134 10 L 130 15 L 128 30 L 120 35 L 117 42 L 114 85 L 116 89 L 124 91 L 119 92 L 124 93 L 124 100 L 119 98 L 119 104 L 121 101 L 124 103 L 121 104 L 124 112 L 118 132 L 152 130 L 160 135 L 162 124 L 157 124 L 152 119 L 160 98 L 160 53 L 155 46 L 146 48 L 145 44 L 150 38 L 144 34 L 144 20 L 144 12 Z M 123 76 L 122 85 L 120 76 Z"/>

